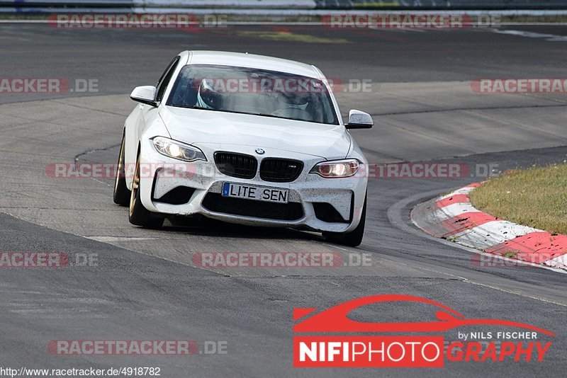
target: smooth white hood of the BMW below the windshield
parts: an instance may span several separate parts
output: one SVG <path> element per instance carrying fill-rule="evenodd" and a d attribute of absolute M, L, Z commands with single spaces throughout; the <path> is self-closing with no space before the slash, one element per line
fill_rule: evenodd
<path fill-rule="evenodd" d="M 173 107 L 159 115 L 171 137 L 188 144 L 238 144 L 324 159 L 344 159 L 351 147 L 342 125 Z"/>

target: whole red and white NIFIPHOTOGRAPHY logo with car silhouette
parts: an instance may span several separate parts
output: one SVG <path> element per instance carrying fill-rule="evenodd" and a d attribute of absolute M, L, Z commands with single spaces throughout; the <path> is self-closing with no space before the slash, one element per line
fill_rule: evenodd
<path fill-rule="evenodd" d="M 349 313 L 369 304 L 430 305 L 437 321 L 366 323 Z M 335 307 L 293 309 L 294 367 L 444 367 L 449 362 L 541 362 L 555 333 L 529 324 L 500 319 L 466 319 L 454 309 L 410 295 L 374 295 Z M 471 332 L 471 326 L 499 331 Z M 439 333 L 459 328 L 459 340 Z M 505 331 L 500 331 L 505 328 Z M 468 329 L 468 332 L 465 332 Z M 463 331 L 463 332 L 461 332 Z M 298 336 L 298 333 L 308 333 Z M 325 336 L 316 334 L 323 333 Z M 369 333 L 422 333 L 422 336 L 367 336 Z M 339 334 L 329 336 L 330 334 Z M 360 335 L 360 336 L 357 336 Z M 361 335 L 364 334 L 364 335 Z M 480 339 L 480 341 L 478 341 Z"/>

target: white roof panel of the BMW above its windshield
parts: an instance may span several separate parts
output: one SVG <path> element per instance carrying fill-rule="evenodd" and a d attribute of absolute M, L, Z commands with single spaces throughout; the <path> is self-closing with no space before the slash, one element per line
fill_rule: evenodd
<path fill-rule="evenodd" d="M 322 79 L 320 71 L 314 66 L 288 59 L 242 52 L 186 50 L 180 53 L 180 55 L 186 54 L 189 55 L 189 64 L 218 64 L 222 66 L 268 69 L 270 71 L 286 72 L 288 74 Z"/>

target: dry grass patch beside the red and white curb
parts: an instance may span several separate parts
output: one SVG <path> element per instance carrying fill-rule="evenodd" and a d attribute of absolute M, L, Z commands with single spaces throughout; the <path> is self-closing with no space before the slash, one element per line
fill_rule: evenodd
<path fill-rule="evenodd" d="M 473 190 L 471 202 L 495 217 L 567 234 L 567 164 L 507 171 Z"/>

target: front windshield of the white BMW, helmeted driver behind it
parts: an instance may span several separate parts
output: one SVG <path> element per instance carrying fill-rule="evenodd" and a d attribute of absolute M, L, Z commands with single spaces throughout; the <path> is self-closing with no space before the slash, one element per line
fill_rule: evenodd
<path fill-rule="evenodd" d="M 339 124 L 322 81 L 245 67 L 187 65 L 167 105 Z"/>

